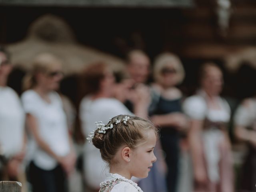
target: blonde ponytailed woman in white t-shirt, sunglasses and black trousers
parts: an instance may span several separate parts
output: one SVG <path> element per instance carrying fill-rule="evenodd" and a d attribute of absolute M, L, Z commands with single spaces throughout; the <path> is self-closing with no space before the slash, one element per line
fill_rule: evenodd
<path fill-rule="evenodd" d="M 61 70 L 57 58 L 40 54 L 24 78 L 22 103 L 35 147 L 28 172 L 34 192 L 66 191 L 66 176 L 76 160 L 62 100 L 55 92 Z"/>

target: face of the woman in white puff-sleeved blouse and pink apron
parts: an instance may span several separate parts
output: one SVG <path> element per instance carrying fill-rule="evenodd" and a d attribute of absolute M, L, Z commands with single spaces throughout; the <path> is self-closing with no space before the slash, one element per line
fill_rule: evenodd
<path fill-rule="evenodd" d="M 208 66 L 202 78 L 202 88 L 211 96 L 217 96 L 222 91 L 222 72 L 215 66 Z"/>

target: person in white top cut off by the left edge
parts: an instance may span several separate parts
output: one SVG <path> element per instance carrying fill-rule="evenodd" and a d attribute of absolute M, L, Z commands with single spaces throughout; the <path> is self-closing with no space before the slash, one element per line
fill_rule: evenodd
<path fill-rule="evenodd" d="M 25 154 L 25 114 L 16 92 L 6 86 L 12 65 L 0 48 L 0 180 L 20 180 Z"/>

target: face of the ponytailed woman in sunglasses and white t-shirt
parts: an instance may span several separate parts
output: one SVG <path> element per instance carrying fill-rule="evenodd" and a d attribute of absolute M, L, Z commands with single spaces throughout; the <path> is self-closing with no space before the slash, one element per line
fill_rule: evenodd
<path fill-rule="evenodd" d="M 62 80 L 62 67 L 54 65 L 46 73 L 39 73 L 37 76 L 38 85 L 43 86 L 46 90 L 57 90 Z"/>

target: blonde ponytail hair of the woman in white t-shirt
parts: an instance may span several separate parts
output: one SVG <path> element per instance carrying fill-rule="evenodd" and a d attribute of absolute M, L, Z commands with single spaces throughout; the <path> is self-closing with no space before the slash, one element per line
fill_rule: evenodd
<path fill-rule="evenodd" d="M 28 90 L 36 86 L 37 82 L 35 76 L 38 72 L 50 72 L 56 65 L 61 65 L 61 61 L 54 55 L 50 53 L 39 54 L 32 62 L 32 69 L 23 78 L 23 90 Z"/>

